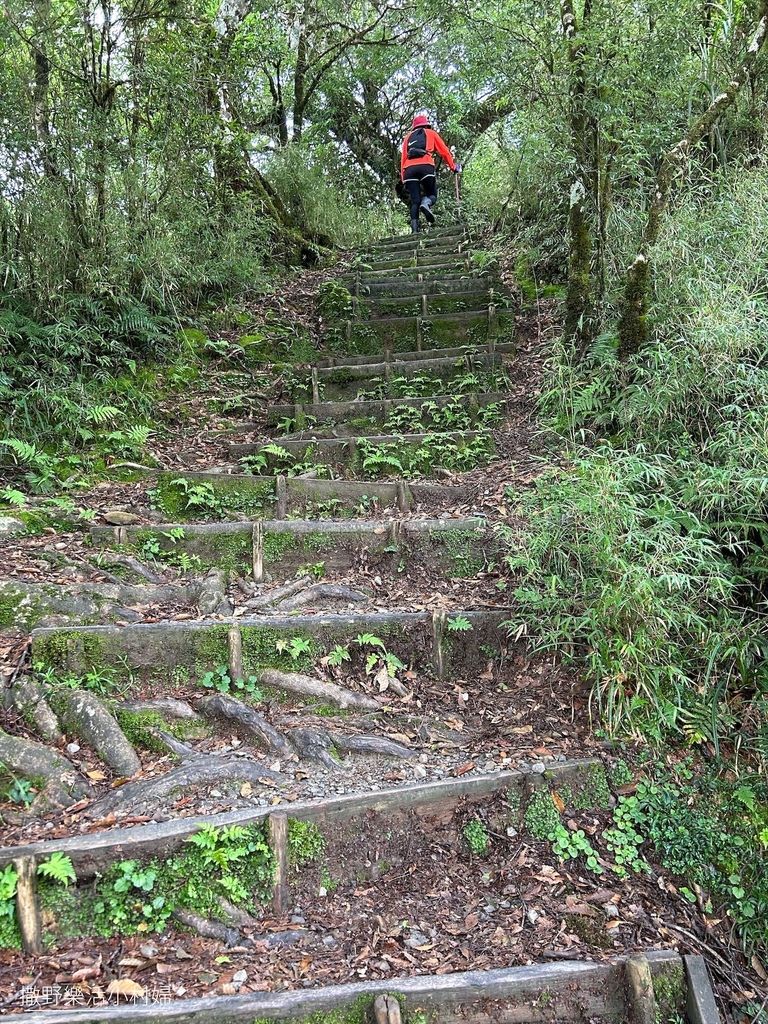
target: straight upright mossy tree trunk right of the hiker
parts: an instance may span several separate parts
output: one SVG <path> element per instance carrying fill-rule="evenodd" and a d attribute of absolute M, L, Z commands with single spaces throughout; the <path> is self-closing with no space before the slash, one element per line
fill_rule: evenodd
<path fill-rule="evenodd" d="M 585 0 L 583 25 L 591 12 L 592 0 Z M 577 23 L 572 0 L 560 0 L 560 19 L 568 46 L 568 128 L 575 163 L 568 202 L 565 337 L 581 357 L 593 336 L 593 239 L 588 207 L 595 181 L 595 128 L 587 109 L 587 44 Z"/>

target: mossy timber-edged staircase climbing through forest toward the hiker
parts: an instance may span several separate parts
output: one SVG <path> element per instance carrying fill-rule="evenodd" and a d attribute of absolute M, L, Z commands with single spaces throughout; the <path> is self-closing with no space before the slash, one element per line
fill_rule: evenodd
<path fill-rule="evenodd" d="M 348 301 L 345 313 L 328 325 L 327 356 L 306 374 L 291 375 L 288 400 L 265 409 L 259 426 L 236 423 L 221 432 L 225 462 L 203 471 L 153 474 L 146 486 L 163 521 L 90 529 L 96 558 L 112 553 L 130 564 L 152 552 L 159 561 L 185 559 L 199 579 L 185 585 L 183 604 L 196 604 L 196 611 L 132 621 L 126 613 L 130 608 L 121 608 L 116 585 L 108 597 L 99 596 L 97 587 L 86 588 L 87 594 L 81 588 L 69 622 L 32 630 L 33 663 L 49 678 L 109 679 L 124 684 L 131 697 L 138 693 L 139 700 L 113 711 L 121 724 L 128 721 L 126 715 L 156 716 L 143 732 L 137 732 L 134 719 L 131 733 L 156 744 L 150 763 L 144 751 L 135 774 L 120 771 L 115 753 L 125 736 L 109 731 L 114 723 L 109 728 L 98 724 L 92 694 L 74 691 L 51 711 L 31 681 L 25 689 L 10 679 L 16 710 L 35 721 L 38 733 L 45 735 L 47 729 L 51 744 L 58 743 L 56 753 L 39 763 L 43 775 L 55 778 L 47 796 L 53 802 L 60 796 L 61 804 L 78 802 L 68 809 L 66 826 L 56 825 L 59 831 L 38 831 L 0 847 L 0 868 L 26 859 L 34 874 L 36 863 L 53 852 L 65 853 L 79 884 L 88 884 L 120 857 L 170 856 L 202 825 L 254 823 L 264 824 L 276 863 L 272 931 L 253 919 L 245 926 L 240 922 L 252 938 L 236 931 L 245 945 L 232 940 L 229 947 L 243 970 L 229 972 L 231 980 L 215 989 L 200 982 L 204 975 L 198 979 L 195 991 L 206 996 L 215 991 L 215 998 L 179 999 L 157 1010 L 96 1004 L 71 1012 L 80 1024 L 128 1013 L 147 1022 L 178 1017 L 217 1024 L 300 1020 L 310 1009 L 338 1010 L 357 998 L 366 1004 L 365 1019 L 374 1013 L 380 1024 L 399 1024 L 393 1000 L 387 1004 L 391 1017 L 381 1017 L 373 1002 L 381 992 L 394 990 L 407 1012 L 416 1014 L 410 1020 L 426 1020 L 427 1008 L 430 1018 L 457 1022 L 490 1013 L 509 1021 L 652 1024 L 653 987 L 666 993 L 664 1014 L 679 1020 L 687 984 L 689 1004 L 697 986 L 709 999 L 693 1010 L 689 1006 L 689 1019 L 715 1024 L 706 971 L 703 981 L 694 983 L 702 965 L 683 965 L 668 950 L 631 957 L 627 967 L 510 968 L 526 963 L 526 954 L 514 958 L 523 929 L 541 932 L 545 955 L 569 956 L 568 950 L 550 948 L 564 932 L 564 920 L 558 925 L 558 915 L 550 911 L 550 935 L 539 911 L 524 902 L 515 907 L 517 874 L 527 870 L 528 880 L 532 874 L 539 883 L 535 892 L 555 878 L 563 893 L 584 890 L 586 899 L 594 888 L 577 873 L 563 870 L 560 877 L 551 866 L 531 866 L 524 846 L 518 845 L 513 864 L 510 845 L 509 862 L 498 871 L 485 870 L 481 858 L 472 858 L 466 867 L 470 902 L 462 902 L 449 931 L 422 923 L 420 915 L 432 913 L 430 900 L 450 896 L 433 891 L 446 882 L 427 869 L 439 862 L 446 872 L 457 870 L 457 837 L 462 828 L 466 836 L 472 814 L 489 822 L 496 842 L 512 844 L 524 827 L 524 808 L 543 787 L 561 805 L 560 793 L 570 793 L 572 807 L 584 813 L 605 809 L 607 783 L 596 759 L 570 762 L 542 746 L 534 748 L 541 759 L 534 764 L 508 756 L 532 732 L 531 726 L 514 724 L 522 714 L 516 710 L 522 703 L 519 686 L 509 701 L 506 684 L 485 694 L 480 728 L 463 712 L 469 700 L 465 687 L 475 695 L 483 689 L 482 683 L 466 681 L 493 679 L 508 656 L 503 624 L 510 611 L 494 571 L 504 552 L 493 517 L 485 514 L 482 466 L 501 454 L 499 441 L 526 396 L 510 375 L 515 323 L 499 283 L 473 269 L 467 232 L 453 224 L 418 238 L 382 240 L 358 258 L 344 284 Z M 428 600 L 420 600 L 425 581 Z M 167 583 L 134 586 L 130 599 L 148 600 L 161 588 L 162 600 L 172 603 Z M 61 615 L 66 590 L 11 582 L 0 586 L 0 598 L 6 605 L 15 600 L 15 621 L 28 626 Z M 325 680 L 315 671 L 318 665 Z M 345 665 L 358 670 L 356 678 L 334 675 L 334 667 Z M 77 721 L 79 707 L 94 719 L 90 731 Z M 58 753 L 62 737 L 53 712 L 69 738 L 77 735 L 101 758 L 106 771 L 87 773 L 91 779 L 105 778 L 98 792 L 82 775 L 73 781 L 73 765 Z M 169 731 L 158 728 L 157 716 L 169 723 Z M 175 716 L 186 722 L 183 741 L 170 734 Z M 23 742 L 24 751 L 0 737 L 0 760 L 30 755 L 31 741 Z M 556 741 L 547 737 L 547 743 L 555 746 Z M 175 764 L 163 765 L 169 757 L 158 759 L 164 749 Z M 130 763 L 130 751 L 127 761 L 122 754 Z M 287 813 L 292 820 L 316 823 L 326 837 L 323 863 L 302 874 L 294 871 L 290 886 Z M 61 822 L 62 816 L 55 820 Z M 355 901 L 362 901 L 362 912 L 352 912 L 357 902 L 344 907 L 340 897 L 337 918 L 348 918 L 347 924 L 334 925 L 332 918 L 316 914 L 311 931 L 299 927 L 305 922 L 295 904 L 311 904 L 318 892 L 325 896 L 329 870 L 334 886 L 341 885 L 342 892 L 347 887 Z M 408 881 L 408 872 L 416 871 L 418 879 L 420 870 L 425 872 L 423 891 L 418 882 Z M 537 870 L 541 873 L 532 873 Z M 380 876 L 386 881 L 390 873 L 394 889 L 387 902 L 375 887 Z M 511 884 L 505 887 L 507 877 Z M 494 887 L 499 893 L 492 900 Z M 597 888 L 595 898 L 602 899 Z M 290 897 L 289 889 L 295 889 Z M 386 891 L 383 885 L 382 894 Z M 611 897 L 608 891 L 605 898 Z M 575 901 L 572 895 L 567 899 Z M 30 911 L 34 898 L 27 902 Z M 412 909 L 403 910 L 409 903 Z M 294 932 L 286 931 L 292 908 Z M 584 912 L 602 914 L 589 907 Z M 390 916 L 412 920 L 386 932 L 384 919 L 389 927 Z M 614 924 L 607 920 L 608 926 Z M 324 988 L 328 970 L 322 965 L 330 963 L 324 957 L 336 956 L 336 977 L 343 976 L 346 954 L 337 937 L 345 928 L 354 949 L 347 977 L 365 980 Z M 357 955 L 360 945 L 375 947 L 382 935 L 381 958 L 375 959 L 368 945 Z M 143 970 L 146 957 L 154 964 L 157 950 L 147 953 L 151 947 L 140 941 L 133 957 L 120 961 L 118 968 Z M 433 943 L 453 948 L 457 941 L 466 943 L 461 955 L 469 974 L 446 974 L 439 954 L 430 952 Z M 627 948 L 637 948 L 637 941 Z M 159 937 L 158 943 L 159 956 L 170 961 L 176 955 L 172 935 Z M 276 954 L 270 951 L 275 947 Z M 211 979 L 218 977 L 217 965 L 230 961 L 218 955 L 219 948 L 211 943 L 199 950 L 214 968 Z M 98 952 L 96 974 L 108 955 L 109 950 Z M 294 971 L 283 987 L 311 990 L 264 991 L 273 987 L 278 963 Z M 393 966 L 396 973 L 390 976 Z M 495 969 L 482 970 L 486 967 Z M 38 978 L 45 971 L 57 977 L 55 970 L 56 964 L 46 964 Z M 434 973 L 400 977 L 427 972 Z M 269 981 L 250 990 L 234 985 L 251 974 Z M 183 986 L 179 991 L 189 994 Z M 52 1013 L 36 1017 L 41 1024 L 53 1022 Z"/>

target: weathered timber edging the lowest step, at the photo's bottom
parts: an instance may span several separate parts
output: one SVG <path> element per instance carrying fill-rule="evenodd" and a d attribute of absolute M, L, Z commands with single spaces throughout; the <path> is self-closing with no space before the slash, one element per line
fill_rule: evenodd
<path fill-rule="evenodd" d="M 672 950 L 647 953 L 654 977 L 681 970 Z M 42 1011 L 28 1015 L 34 1024 L 102 1024 L 130 1019 L 141 1024 L 253 1024 L 254 1021 L 302 1022 L 313 1014 L 343 1010 L 381 993 L 404 1000 L 406 1012 L 420 1010 L 440 1024 L 534 1024 L 584 1021 L 591 1017 L 625 1019 L 625 957 L 608 963 L 540 964 L 534 967 L 468 971 L 440 976 L 352 982 L 289 992 L 205 996 L 170 1004 L 131 1005 L 86 1010 Z M 471 1007 L 471 1011 L 467 1008 Z M 681 1008 L 682 1009 L 682 1008 Z"/>

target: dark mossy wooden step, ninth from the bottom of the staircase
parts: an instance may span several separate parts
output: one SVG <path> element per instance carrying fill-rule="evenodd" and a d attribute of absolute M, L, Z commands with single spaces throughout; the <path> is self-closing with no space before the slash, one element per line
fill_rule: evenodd
<path fill-rule="evenodd" d="M 484 345 L 498 338 L 512 340 L 515 314 L 495 307 L 486 311 L 434 313 L 425 316 L 389 316 L 373 321 L 347 321 L 334 342 L 343 344 L 351 354 L 373 355 L 390 348 L 393 352 L 421 348 L 454 347 L 460 344 Z"/>

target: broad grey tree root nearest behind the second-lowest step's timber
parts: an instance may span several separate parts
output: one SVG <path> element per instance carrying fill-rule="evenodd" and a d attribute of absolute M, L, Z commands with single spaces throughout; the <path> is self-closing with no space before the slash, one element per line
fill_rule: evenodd
<path fill-rule="evenodd" d="M 136 811 L 140 807 L 154 809 L 164 805 L 174 793 L 184 794 L 195 785 L 221 785 L 225 782 L 251 782 L 258 785 L 263 779 L 286 782 L 283 775 L 255 761 L 201 754 L 190 757 L 178 768 L 172 768 L 158 778 L 127 782 L 92 804 L 88 808 L 88 814 L 91 817 L 103 817 L 118 810 Z"/>

